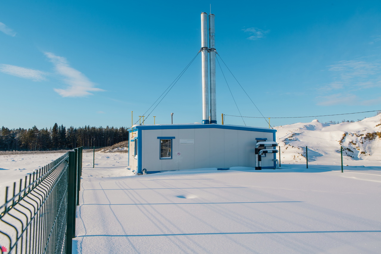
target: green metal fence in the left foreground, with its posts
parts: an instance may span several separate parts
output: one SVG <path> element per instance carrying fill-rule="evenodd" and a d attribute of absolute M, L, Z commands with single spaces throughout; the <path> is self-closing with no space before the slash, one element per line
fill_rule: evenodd
<path fill-rule="evenodd" d="M 2 253 L 72 253 L 82 148 L 6 187 L 0 206 Z"/>

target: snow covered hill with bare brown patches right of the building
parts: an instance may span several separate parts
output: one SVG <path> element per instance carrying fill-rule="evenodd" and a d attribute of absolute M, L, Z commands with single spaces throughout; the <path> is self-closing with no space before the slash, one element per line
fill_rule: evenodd
<path fill-rule="evenodd" d="M 323 124 L 318 120 L 274 127 L 285 161 L 305 162 L 337 156 L 343 146 L 347 161 L 381 159 L 381 114 L 358 122 Z"/>

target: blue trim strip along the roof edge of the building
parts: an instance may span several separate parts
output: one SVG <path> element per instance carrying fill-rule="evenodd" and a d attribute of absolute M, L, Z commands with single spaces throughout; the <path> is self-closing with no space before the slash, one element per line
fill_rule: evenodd
<path fill-rule="evenodd" d="M 227 129 L 227 130 L 247 130 L 247 131 L 252 131 L 252 132 L 269 132 L 269 133 L 275 133 L 277 131 L 274 129 L 267 129 L 267 128 L 246 127 L 246 126 L 238 126 L 238 125 L 220 125 L 220 124 L 136 125 L 133 128 L 133 130 L 134 131 L 135 130 L 176 130 L 176 129 L 204 129 L 204 128 L 216 128 L 216 129 Z M 128 130 L 131 130 L 131 128 Z M 138 135 L 138 137 L 139 137 L 139 135 Z"/>

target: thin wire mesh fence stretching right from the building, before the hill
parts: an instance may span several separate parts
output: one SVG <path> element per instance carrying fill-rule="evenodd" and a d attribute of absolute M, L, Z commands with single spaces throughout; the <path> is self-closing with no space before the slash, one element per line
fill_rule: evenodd
<path fill-rule="evenodd" d="M 381 147 L 281 146 L 282 164 L 381 175 Z"/>

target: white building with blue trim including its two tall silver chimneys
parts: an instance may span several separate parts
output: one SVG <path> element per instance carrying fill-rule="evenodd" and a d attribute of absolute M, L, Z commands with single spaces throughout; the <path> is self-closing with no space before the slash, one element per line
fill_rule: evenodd
<path fill-rule="evenodd" d="M 207 13 L 201 13 L 202 124 L 133 125 L 128 129 L 128 168 L 137 170 L 138 174 L 234 166 L 275 169 L 277 166 L 276 130 L 217 124 L 214 16 L 209 14 L 208 29 Z"/>

